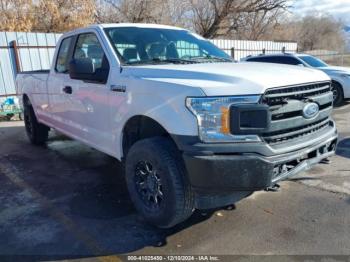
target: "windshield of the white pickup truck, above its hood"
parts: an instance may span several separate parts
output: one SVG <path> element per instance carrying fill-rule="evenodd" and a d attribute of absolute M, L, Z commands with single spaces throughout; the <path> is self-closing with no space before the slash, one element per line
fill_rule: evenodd
<path fill-rule="evenodd" d="M 186 30 L 115 27 L 105 32 L 124 64 L 233 62 L 208 40 Z"/>

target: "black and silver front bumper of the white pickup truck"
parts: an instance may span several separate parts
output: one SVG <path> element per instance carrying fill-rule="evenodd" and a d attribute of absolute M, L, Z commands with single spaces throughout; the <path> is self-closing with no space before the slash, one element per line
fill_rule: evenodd
<path fill-rule="evenodd" d="M 178 143 L 179 139 L 175 141 Z M 261 150 L 261 144 L 257 147 L 259 150 L 252 150 L 251 144 L 240 144 L 239 151 L 225 150 L 225 153 L 217 149 L 218 145 L 215 146 L 216 150 L 210 150 L 210 146 L 198 150 L 203 145 L 196 144 L 192 150 L 184 151 L 183 159 L 189 181 L 199 195 L 251 192 L 271 187 L 334 155 L 336 143 L 337 132 L 334 127 L 319 139 L 313 140 L 311 145 L 283 154 L 263 155 L 261 152 L 266 150 Z M 227 144 L 224 146 L 227 149 Z M 249 150 L 244 152 L 245 146 Z M 267 144 L 265 146 L 268 147 Z"/>

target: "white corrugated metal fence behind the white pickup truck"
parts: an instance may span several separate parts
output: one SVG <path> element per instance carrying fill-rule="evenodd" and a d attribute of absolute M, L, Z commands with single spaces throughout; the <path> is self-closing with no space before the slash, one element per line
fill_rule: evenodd
<path fill-rule="evenodd" d="M 15 95 L 19 71 L 49 69 L 61 34 L 0 32 L 0 98 Z M 234 59 L 260 53 L 296 52 L 297 44 L 272 41 L 210 40 Z"/>

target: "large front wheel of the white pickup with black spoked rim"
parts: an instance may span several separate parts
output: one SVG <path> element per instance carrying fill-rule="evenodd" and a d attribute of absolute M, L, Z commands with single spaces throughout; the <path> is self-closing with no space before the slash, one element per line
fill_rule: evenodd
<path fill-rule="evenodd" d="M 147 222 L 169 228 L 191 216 L 194 194 L 170 139 L 136 142 L 126 157 L 125 172 L 131 200 Z"/>

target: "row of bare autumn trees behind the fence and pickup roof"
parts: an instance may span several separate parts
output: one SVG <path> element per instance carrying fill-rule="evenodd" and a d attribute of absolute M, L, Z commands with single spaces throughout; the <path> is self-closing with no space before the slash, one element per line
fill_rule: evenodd
<path fill-rule="evenodd" d="M 157 23 L 205 38 L 298 40 L 342 50 L 342 23 L 317 13 L 288 18 L 293 0 L 0 0 L 0 31 L 65 32 L 92 23 Z"/>

